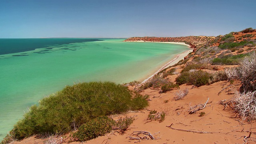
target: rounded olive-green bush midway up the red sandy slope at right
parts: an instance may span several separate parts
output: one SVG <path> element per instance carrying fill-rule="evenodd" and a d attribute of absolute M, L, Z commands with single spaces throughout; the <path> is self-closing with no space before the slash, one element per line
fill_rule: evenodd
<path fill-rule="evenodd" d="M 209 84 L 210 74 L 202 70 L 194 72 L 183 72 L 176 78 L 177 84 L 193 84 L 195 86 L 202 86 Z"/>

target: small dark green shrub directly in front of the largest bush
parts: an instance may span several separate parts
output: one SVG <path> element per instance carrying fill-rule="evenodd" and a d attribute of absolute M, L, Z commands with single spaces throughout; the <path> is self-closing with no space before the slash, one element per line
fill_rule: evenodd
<path fill-rule="evenodd" d="M 115 121 L 106 117 L 100 116 L 82 124 L 78 131 L 74 134 L 74 137 L 80 141 L 87 141 L 104 134 L 112 130 L 112 126 Z"/>

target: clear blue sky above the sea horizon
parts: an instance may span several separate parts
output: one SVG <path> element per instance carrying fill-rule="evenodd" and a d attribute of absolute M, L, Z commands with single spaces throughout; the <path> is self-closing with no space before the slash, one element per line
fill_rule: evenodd
<path fill-rule="evenodd" d="M 0 38 L 218 36 L 256 28 L 256 0 L 0 0 Z"/>

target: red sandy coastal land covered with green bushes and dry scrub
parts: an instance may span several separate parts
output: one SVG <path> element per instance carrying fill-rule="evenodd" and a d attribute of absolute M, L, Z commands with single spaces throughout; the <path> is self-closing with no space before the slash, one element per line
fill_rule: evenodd
<path fill-rule="evenodd" d="M 255 29 L 126 41 L 185 42 L 194 50 L 144 83 L 67 86 L 32 106 L 2 143 L 32 135 L 21 143 L 256 142 Z"/>

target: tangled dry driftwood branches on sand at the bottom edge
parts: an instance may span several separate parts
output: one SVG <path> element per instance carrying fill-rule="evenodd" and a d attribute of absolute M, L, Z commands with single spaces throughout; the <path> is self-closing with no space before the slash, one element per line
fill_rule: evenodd
<path fill-rule="evenodd" d="M 146 135 L 146 136 L 140 136 L 140 134 L 143 134 L 143 135 Z M 136 136 L 136 137 L 134 137 Z M 135 131 L 135 132 L 132 132 L 132 134 L 130 134 L 130 136 L 126 137 L 126 138 L 129 138 L 129 140 L 138 140 L 137 142 L 134 142 L 134 143 L 138 143 L 140 142 L 140 140 L 148 140 L 149 138 L 151 140 L 155 140 L 154 136 L 152 136 L 152 134 L 150 132 L 146 132 L 146 131 Z"/>

